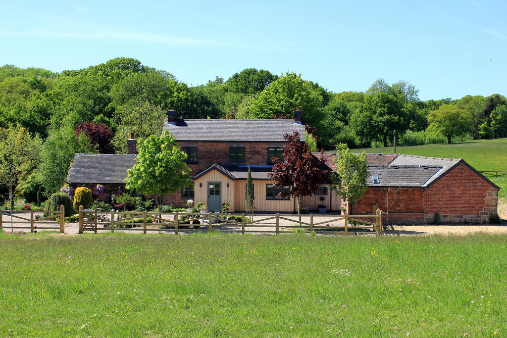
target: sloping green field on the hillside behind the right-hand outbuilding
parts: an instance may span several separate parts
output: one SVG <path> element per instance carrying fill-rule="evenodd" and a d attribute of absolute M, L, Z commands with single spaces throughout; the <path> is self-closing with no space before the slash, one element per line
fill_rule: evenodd
<path fill-rule="evenodd" d="M 392 153 L 392 147 L 353 149 L 354 152 Z M 463 159 L 476 170 L 507 171 L 507 138 L 472 140 L 454 144 L 397 146 L 396 153 Z M 507 197 L 507 177 L 491 179 L 501 187 L 500 197 Z"/>

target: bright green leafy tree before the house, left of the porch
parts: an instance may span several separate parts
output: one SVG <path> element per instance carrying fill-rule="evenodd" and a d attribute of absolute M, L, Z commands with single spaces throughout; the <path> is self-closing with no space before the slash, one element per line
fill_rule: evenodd
<path fill-rule="evenodd" d="M 164 196 L 192 183 L 186 159 L 171 133 L 152 135 L 142 143 L 137 164 L 127 171 L 126 187 L 153 196 L 162 211 Z"/>

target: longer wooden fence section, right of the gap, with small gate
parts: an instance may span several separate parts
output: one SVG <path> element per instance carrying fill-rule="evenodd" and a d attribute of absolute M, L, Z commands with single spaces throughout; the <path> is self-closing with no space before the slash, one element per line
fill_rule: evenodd
<path fill-rule="evenodd" d="M 247 218 L 247 216 L 250 218 Z M 219 231 L 241 234 L 279 234 L 283 232 L 283 228 L 302 228 L 310 232 L 323 234 L 375 233 L 376 235 L 380 235 L 382 233 L 382 210 L 380 209 L 377 209 L 374 215 L 310 214 L 302 215 L 301 217 L 301 220 L 299 220 L 298 215 L 279 213 L 99 212 L 93 209 L 83 209 L 80 206 L 79 233 L 83 234 L 85 231 L 92 231 L 94 233 L 108 231 L 114 233 L 118 230 L 127 230 L 132 232 L 142 231 L 144 234 L 148 232 L 173 232 L 174 234 L 178 234 L 181 231 L 188 233 Z M 282 228 L 280 221 L 285 221 L 288 225 Z"/>

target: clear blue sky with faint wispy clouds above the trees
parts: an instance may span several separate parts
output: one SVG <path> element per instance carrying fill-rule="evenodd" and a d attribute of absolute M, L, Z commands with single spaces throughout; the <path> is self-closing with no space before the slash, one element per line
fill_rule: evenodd
<path fill-rule="evenodd" d="M 189 85 L 244 68 L 341 92 L 507 94 L 506 1 L 3 1 L 0 64 L 79 69 L 126 56 Z"/>

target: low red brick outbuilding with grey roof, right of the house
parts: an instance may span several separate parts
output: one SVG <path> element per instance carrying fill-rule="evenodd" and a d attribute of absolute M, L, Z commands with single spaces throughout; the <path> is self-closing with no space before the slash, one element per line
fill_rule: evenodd
<path fill-rule="evenodd" d="M 334 155 L 327 156 L 330 168 Z M 482 223 L 497 214 L 499 187 L 462 159 L 400 154 L 367 154 L 368 190 L 355 204 L 342 201 L 349 214 L 388 212 L 394 224 Z M 388 218 L 387 218 L 388 217 Z"/>

